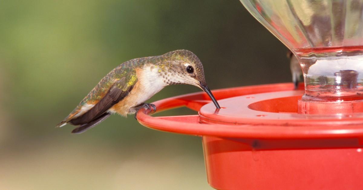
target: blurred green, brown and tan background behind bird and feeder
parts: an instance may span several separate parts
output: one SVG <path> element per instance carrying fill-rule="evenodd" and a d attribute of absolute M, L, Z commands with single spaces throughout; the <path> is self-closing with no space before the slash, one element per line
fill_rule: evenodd
<path fill-rule="evenodd" d="M 54 128 L 132 58 L 191 50 L 211 89 L 290 81 L 286 48 L 238 0 L 0 1 L 0 34 L 0 189 L 210 189 L 199 137 L 133 116 Z"/>

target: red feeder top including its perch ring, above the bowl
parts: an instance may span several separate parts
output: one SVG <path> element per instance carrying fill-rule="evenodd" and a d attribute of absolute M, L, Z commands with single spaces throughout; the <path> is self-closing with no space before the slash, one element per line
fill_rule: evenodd
<path fill-rule="evenodd" d="M 270 84 L 213 90 L 224 109 L 216 110 L 204 92 L 153 102 L 159 111 L 180 106 L 199 115 L 152 117 L 140 109 L 140 124 L 166 132 L 232 138 L 363 137 L 363 114 L 298 114 L 302 91 L 292 84 Z M 276 92 L 277 91 L 277 92 Z M 209 103 L 210 102 L 210 103 Z"/>

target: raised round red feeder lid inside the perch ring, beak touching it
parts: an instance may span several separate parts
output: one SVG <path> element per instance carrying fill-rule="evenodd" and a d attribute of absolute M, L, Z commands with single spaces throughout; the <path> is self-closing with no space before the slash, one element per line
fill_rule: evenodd
<path fill-rule="evenodd" d="M 227 125 L 332 126 L 338 123 L 343 125 L 345 122 L 346 125 L 352 122 L 363 124 L 363 113 L 298 114 L 298 101 L 302 95 L 302 90 L 289 90 L 226 98 L 219 100 L 221 109 L 216 109 L 209 103 L 201 107 L 199 116 L 204 123 Z M 329 102 L 326 104 L 342 106 Z"/>

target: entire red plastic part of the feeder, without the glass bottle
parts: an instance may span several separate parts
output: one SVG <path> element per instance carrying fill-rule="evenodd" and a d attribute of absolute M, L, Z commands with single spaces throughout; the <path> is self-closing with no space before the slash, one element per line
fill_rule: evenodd
<path fill-rule="evenodd" d="M 361 189 L 363 114 L 299 114 L 303 91 L 292 89 L 213 90 L 224 109 L 203 92 L 186 94 L 154 104 L 158 111 L 187 106 L 199 115 L 151 117 L 143 109 L 137 118 L 152 129 L 203 136 L 208 182 L 216 189 Z M 351 106 L 338 106 L 345 105 Z"/>

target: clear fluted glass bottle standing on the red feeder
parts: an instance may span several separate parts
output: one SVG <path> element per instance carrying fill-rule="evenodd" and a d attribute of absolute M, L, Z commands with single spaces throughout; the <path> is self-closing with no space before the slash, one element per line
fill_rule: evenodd
<path fill-rule="evenodd" d="M 305 100 L 362 99 L 363 1 L 241 0 L 297 55 Z"/>

